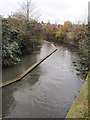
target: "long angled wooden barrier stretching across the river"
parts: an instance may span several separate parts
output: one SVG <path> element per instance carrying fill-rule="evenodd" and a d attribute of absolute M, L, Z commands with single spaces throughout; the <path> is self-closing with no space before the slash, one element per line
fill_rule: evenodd
<path fill-rule="evenodd" d="M 55 47 L 55 46 L 54 46 Z M 42 58 L 41 60 L 39 60 L 38 62 L 34 63 L 31 67 L 29 67 L 27 70 L 25 70 L 22 74 L 20 74 L 18 77 L 9 80 L 7 82 L 1 83 L 0 84 L 0 88 L 5 87 L 7 85 L 10 85 L 14 82 L 17 82 L 19 80 L 21 80 L 23 77 L 25 77 L 29 72 L 31 72 L 34 68 L 36 68 L 40 63 L 42 63 L 44 60 L 46 60 L 49 56 L 51 56 L 55 51 L 57 50 L 57 48 L 55 48 L 51 53 L 49 53 L 47 56 L 45 56 L 44 58 Z"/>

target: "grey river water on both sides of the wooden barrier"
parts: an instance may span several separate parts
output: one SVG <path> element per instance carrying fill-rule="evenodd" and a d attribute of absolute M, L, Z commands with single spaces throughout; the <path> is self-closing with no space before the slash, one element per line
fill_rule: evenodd
<path fill-rule="evenodd" d="M 82 85 L 73 61 L 74 49 L 55 44 L 57 51 L 21 81 L 2 89 L 2 113 L 6 118 L 65 118 Z M 44 42 L 40 50 L 22 57 L 16 66 L 3 69 L 3 81 L 17 77 L 54 48 Z"/>

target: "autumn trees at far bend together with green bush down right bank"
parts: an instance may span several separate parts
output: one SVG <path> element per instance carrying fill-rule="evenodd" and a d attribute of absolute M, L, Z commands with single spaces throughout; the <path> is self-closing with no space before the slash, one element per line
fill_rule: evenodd
<path fill-rule="evenodd" d="M 80 71 L 84 76 L 89 71 L 89 46 L 90 46 L 90 27 L 84 24 L 72 24 L 70 21 L 64 25 L 43 24 L 45 39 L 54 40 L 59 43 L 73 45 L 78 48 L 80 53 Z M 89 29 L 89 30 L 88 30 Z"/>

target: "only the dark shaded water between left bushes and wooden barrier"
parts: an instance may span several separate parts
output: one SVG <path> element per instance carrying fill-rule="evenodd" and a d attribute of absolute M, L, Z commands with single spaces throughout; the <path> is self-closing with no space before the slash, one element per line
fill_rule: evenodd
<path fill-rule="evenodd" d="M 41 49 L 41 47 L 39 47 Z M 32 54 L 24 55 L 21 57 L 21 63 L 15 66 L 6 67 L 2 69 L 2 80 L 10 80 L 18 75 L 20 75 L 23 71 L 25 71 L 28 67 L 34 64 L 38 58 L 37 56 L 40 54 L 40 49 L 37 52 L 33 52 Z"/>

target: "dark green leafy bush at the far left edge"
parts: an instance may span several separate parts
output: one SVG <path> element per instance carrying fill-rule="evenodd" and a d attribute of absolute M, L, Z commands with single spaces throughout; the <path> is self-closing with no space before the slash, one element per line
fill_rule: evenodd
<path fill-rule="evenodd" d="M 11 28 L 6 19 L 2 20 L 2 64 L 3 66 L 16 64 L 20 61 L 19 44 L 16 42 L 19 32 Z"/>

